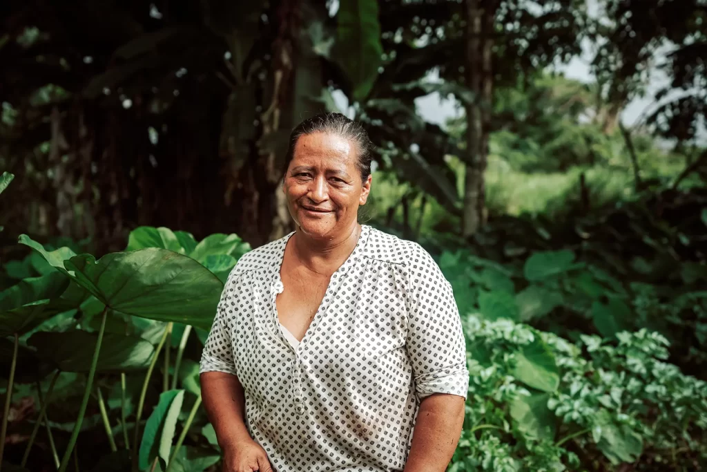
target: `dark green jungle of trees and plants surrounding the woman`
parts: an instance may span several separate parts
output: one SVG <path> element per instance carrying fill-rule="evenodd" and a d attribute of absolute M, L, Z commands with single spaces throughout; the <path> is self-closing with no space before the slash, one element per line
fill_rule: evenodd
<path fill-rule="evenodd" d="M 455 289 L 471 376 L 448 470 L 707 465 L 705 1 L 0 19 L 2 470 L 221 470 L 201 345 L 238 257 L 293 229 L 288 134 L 324 111 L 376 146 L 361 221 Z"/>

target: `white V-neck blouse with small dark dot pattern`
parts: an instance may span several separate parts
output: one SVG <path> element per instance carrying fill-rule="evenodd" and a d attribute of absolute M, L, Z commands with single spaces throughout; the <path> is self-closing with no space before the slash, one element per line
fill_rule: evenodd
<path fill-rule="evenodd" d="M 243 255 L 223 289 L 201 372 L 238 376 L 276 472 L 402 471 L 421 399 L 467 396 L 450 283 L 418 243 L 362 226 L 296 349 L 275 304 L 294 233 Z"/>

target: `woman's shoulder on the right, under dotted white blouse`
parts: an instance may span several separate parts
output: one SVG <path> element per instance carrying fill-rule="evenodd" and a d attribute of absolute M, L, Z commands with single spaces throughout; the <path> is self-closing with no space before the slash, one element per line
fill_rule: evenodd
<path fill-rule="evenodd" d="M 401 264 L 415 270 L 419 265 L 436 266 L 432 255 L 415 241 L 399 238 L 380 229 L 370 228 L 366 244 L 368 258 L 388 263 Z"/>

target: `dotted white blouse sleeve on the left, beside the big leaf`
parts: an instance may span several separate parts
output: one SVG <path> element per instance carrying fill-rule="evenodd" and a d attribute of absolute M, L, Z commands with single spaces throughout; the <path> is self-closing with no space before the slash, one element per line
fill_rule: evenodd
<path fill-rule="evenodd" d="M 204 343 L 204 350 L 201 351 L 201 362 L 199 362 L 199 372 L 226 372 L 235 375 L 235 362 L 233 362 L 233 343 L 231 342 L 231 330 L 228 318 L 233 318 L 234 306 L 231 303 L 233 297 L 233 284 L 235 282 L 234 270 L 228 275 L 226 285 L 221 292 L 221 299 L 216 308 L 216 318 L 211 325 L 209 337 Z"/>

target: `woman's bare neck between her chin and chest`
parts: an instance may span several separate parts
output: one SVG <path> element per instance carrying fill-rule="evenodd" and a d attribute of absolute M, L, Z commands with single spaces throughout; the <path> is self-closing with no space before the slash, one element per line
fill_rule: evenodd
<path fill-rule="evenodd" d="M 317 274 L 331 275 L 351 255 L 361 234 L 358 221 L 339 231 L 339 234 L 323 238 L 312 237 L 298 226 L 293 240 L 296 257 L 305 267 Z M 331 270 L 334 267 L 334 270 Z"/>

